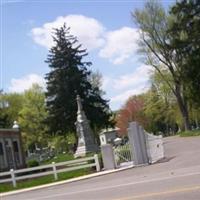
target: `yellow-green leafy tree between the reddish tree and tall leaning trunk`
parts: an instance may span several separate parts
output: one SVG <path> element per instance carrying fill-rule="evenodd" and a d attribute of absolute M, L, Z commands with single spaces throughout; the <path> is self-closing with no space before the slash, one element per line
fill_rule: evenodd
<path fill-rule="evenodd" d="M 170 74 L 163 72 L 166 79 L 170 80 Z M 158 72 L 151 76 L 152 87 L 144 95 L 144 112 L 149 120 L 146 129 L 154 134 L 162 132 L 164 135 L 171 135 L 182 129 L 182 118 L 177 105 L 176 97 L 162 79 Z"/>

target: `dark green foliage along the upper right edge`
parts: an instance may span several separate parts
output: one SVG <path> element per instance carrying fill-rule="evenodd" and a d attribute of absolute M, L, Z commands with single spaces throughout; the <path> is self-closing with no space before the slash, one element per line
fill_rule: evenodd
<path fill-rule="evenodd" d="M 178 1 L 170 10 L 171 47 L 186 83 L 186 95 L 200 105 L 200 4 L 199 1 Z"/>

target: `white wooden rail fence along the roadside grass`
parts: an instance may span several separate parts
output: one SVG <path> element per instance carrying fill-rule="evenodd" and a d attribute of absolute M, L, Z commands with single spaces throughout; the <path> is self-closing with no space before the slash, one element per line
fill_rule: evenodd
<path fill-rule="evenodd" d="M 94 160 L 94 162 L 88 164 L 87 161 L 90 161 L 90 160 Z M 53 174 L 54 179 L 57 180 L 58 173 L 60 172 L 73 171 L 73 170 L 89 168 L 89 167 L 96 167 L 96 171 L 100 171 L 99 159 L 98 159 L 97 154 L 88 158 L 81 158 L 77 160 L 71 160 L 71 161 L 59 162 L 59 163 L 52 162 L 52 164 L 42 165 L 38 167 L 31 167 L 31 168 L 18 169 L 18 170 L 11 169 L 8 172 L 0 173 L 0 177 L 10 176 L 10 178 L 5 178 L 5 179 L 0 178 L 0 183 L 12 182 L 13 187 L 16 187 L 17 180 L 30 179 L 30 178 L 46 176 L 50 174 Z M 41 169 L 46 169 L 46 170 L 44 172 L 37 172 L 38 170 L 41 170 Z M 36 171 L 36 172 L 34 174 L 28 174 L 28 172 L 33 172 L 33 171 Z M 20 173 L 25 173 L 25 172 L 27 174 L 20 175 Z"/>

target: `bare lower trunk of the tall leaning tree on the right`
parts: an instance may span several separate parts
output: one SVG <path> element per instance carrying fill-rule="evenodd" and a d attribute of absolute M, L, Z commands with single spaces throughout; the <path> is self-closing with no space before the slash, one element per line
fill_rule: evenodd
<path fill-rule="evenodd" d="M 185 128 L 185 130 L 191 130 L 188 107 L 187 107 L 187 103 L 184 101 L 184 99 L 181 95 L 180 84 L 176 83 L 175 87 L 176 87 L 175 96 L 176 96 L 178 106 L 179 106 L 179 109 L 181 111 L 181 115 L 182 115 L 182 118 L 183 118 L 184 128 Z"/>

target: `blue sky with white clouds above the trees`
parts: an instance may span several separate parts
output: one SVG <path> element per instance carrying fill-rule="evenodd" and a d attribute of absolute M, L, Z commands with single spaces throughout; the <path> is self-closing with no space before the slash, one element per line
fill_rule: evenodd
<path fill-rule="evenodd" d="M 0 89 L 45 88 L 45 63 L 52 29 L 64 23 L 88 51 L 89 68 L 102 74 L 104 98 L 112 110 L 148 90 L 151 67 L 139 57 L 139 34 L 131 12 L 144 0 L 0 0 Z M 167 9 L 173 0 L 162 0 Z"/>

